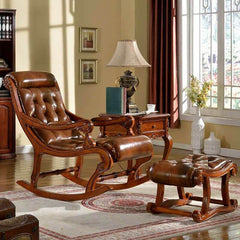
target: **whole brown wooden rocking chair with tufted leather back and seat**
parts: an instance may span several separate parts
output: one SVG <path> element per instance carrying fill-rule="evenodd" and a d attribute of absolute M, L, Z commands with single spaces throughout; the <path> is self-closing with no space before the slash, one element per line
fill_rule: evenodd
<path fill-rule="evenodd" d="M 152 143 L 146 136 L 133 136 L 132 117 L 123 116 L 115 120 L 95 118 L 97 126 L 121 124 L 127 128 L 129 135 L 101 138 L 95 142 L 91 137 L 93 122 L 80 118 L 65 108 L 57 81 L 51 73 L 12 72 L 4 78 L 4 85 L 10 90 L 19 122 L 34 148 L 31 183 L 17 181 L 22 187 L 41 197 L 74 201 L 90 198 L 108 190 L 134 187 L 149 179 L 147 176 L 140 176 L 139 171 L 152 157 Z M 77 157 L 76 164 L 66 169 L 41 172 L 43 154 Z M 87 154 L 97 154 L 100 160 L 88 181 L 81 178 L 83 156 Z M 126 169 L 121 172 L 105 173 L 119 161 L 127 161 Z M 37 187 L 40 177 L 56 174 L 84 186 L 85 192 L 63 194 Z M 126 182 L 100 183 L 119 176 L 127 176 Z"/>

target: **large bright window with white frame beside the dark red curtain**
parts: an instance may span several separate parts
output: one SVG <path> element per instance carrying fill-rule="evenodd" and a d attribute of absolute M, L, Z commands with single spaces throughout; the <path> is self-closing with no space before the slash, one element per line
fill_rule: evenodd
<path fill-rule="evenodd" d="M 213 80 L 204 115 L 240 118 L 240 0 L 179 0 L 182 113 L 190 74 Z"/>

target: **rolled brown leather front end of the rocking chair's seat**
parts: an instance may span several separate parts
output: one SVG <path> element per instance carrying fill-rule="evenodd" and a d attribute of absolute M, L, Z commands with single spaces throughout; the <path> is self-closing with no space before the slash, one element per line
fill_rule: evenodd
<path fill-rule="evenodd" d="M 96 143 L 110 152 L 114 162 L 149 157 L 153 152 L 151 140 L 144 135 L 100 138 Z"/>

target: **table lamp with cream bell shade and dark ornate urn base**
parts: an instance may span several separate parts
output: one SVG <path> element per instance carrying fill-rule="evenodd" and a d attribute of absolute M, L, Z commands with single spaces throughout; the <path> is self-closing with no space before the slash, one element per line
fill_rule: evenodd
<path fill-rule="evenodd" d="M 138 49 L 135 40 L 120 40 L 117 43 L 115 53 L 107 64 L 109 67 L 150 67 L 151 65 L 144 59 Z M 131 97 L 136 92 L 139 80 L 136 76 L 132 76 L 132 72 L 126 70 L 123 76 L 119 78 L 120 87 L 127 89 L 127 112 L 138 112 L 137 105 L 131 101 Z"/>

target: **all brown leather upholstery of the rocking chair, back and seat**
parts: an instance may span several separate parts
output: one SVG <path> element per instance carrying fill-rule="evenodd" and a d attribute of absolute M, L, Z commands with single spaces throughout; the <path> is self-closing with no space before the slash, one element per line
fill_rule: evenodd
<path fill-rule="evenodd" d="M 48 125 L 71 123 L 57 81 L 51 73 L 18 72 L 11 73 L 21 99 L 23 111 Z M 84 147 L 84 136 L 77 130 L 50 131 L 33 129 L 48 146 L 59 150 L 79 151 Z M 149 157 L 153 147 L 146 136 L 104 138 L 97 145 L 107 149 L 113 160 L 123 161 Z"/>

